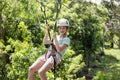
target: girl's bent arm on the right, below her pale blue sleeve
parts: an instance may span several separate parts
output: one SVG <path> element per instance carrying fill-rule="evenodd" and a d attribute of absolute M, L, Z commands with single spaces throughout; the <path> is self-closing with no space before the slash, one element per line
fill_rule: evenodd
<path fill-rule="evenodd" d="M 53 33 L 53 39 L 55 41 L 55 47 L 56 47 L 56 50 L 57 50 L 58 53 L 60 53 L 63 49 L 65 49 L 67 47 L 66 44 L 59 45 L 55 33 Z"/>

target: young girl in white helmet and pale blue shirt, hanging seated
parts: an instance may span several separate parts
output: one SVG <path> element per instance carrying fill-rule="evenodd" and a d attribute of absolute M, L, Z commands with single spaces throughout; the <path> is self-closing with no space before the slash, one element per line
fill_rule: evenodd
<path fill-rule="evenodd" d="M 67 19 L 60 19 L 57 21 L 57 27 L 59 35 L 56 36 L 53 33 L 53 43 L 48 39 L 48 29 L 46 26 L 46 33 L 43 39 L 44 44 L 54 44 L 55 49 L 52 45 L 49 47 L 46 54 L 40 56 L 30 67 L 28 72 L 28 80 L 34 80 L 34 73 L 38 71 L 39 78 L 41 80 L 47 80 L 45 73 L 53 68 L 54 65 L 61 61 L 62 55 L 64 55 L 68 45 L 70 44 L 70 39 L 67 37 L 67 30 L 69 27 L 69 21 Z M 53 58 L 55 55 L 55 58 Z M 55 61 L 54 61 L 55 60 Z"/>

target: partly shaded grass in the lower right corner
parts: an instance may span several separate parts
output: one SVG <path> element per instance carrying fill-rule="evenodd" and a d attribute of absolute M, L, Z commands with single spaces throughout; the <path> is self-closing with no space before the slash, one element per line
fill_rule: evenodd
<path fill-rule="evenodd" d="M 98 80 L 120 80 L 120 49 L 105 49 L 101 62 L 95 62 L 98 68 L 94 72 L 102 72 L 104 78 Z M 97 80 L 97 79 L 95 79 Z"/>

